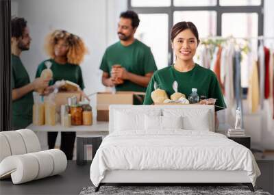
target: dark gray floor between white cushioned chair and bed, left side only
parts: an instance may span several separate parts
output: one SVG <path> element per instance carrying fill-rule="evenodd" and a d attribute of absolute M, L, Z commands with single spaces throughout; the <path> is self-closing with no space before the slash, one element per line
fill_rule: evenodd
<path fill-rule="evenodd" d="M 92 185 L 89 173 L 90 163 L 77 166 L 76 161 L 68 161 L 60 175 L 19 185 L 13 185 L 11 179 L 0 181 L 0 194 L 79 194 L 83 187 Z"/>

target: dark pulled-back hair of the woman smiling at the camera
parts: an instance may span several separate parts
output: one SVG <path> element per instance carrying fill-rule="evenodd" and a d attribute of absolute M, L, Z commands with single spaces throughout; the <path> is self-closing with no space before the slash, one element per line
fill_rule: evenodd
<path fill-rule="evenodd" d="M 192 34 L 194 34 L 194 36 L 197 38 L 199 42 L 199 34 L 197 27 L 192 22 L 186 21 L 179 22 L 171 28 L 171 42 L 173 42 L 174 38 L 185 29 L 190 29 L 190 31 L 192 31 Z"/>

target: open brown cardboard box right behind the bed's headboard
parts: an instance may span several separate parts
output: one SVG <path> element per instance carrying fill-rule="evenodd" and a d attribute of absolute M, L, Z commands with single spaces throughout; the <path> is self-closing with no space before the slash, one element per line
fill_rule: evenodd
<path fill-rule="evenodd" d="M 108 121 L 109 106 L 112 104 L 134 104 L 134 96 L 145 96 L 144 92 L 98 92 L 97 93 L 97 121 Z"/>

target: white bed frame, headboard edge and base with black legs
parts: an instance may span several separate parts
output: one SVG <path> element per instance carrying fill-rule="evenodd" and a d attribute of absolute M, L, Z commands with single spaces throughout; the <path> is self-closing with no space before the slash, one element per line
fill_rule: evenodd
<path fill-rule="evenodd" d="M 184 105 L 154 105 L 153 108 L 179 108 Z M 187 108 L 200 107 L 210 112 L 210 131 L 214 131 L 214 106 L 213 105 L 186 105 Z M 114 109 L 148 109 L 147 105 L 110 105 L 110 133 L 114 131 Z M 225 170 L 108 170 L 105 177 L 95 188 L 98 192 L 101 185 L 107 183 L 158 183 L 160 185 L 182 184 L 182 183 L 242 183 L 247 185 L 251 192 L 254 192 L 253 185 L 247 176 L 246 171 L 225 171 Z"/>

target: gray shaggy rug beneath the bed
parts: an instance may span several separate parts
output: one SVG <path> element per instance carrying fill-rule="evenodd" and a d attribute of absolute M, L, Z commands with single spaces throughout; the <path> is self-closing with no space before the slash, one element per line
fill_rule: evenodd
<path fill-rule="evenodd" d="M 101 186 L 99 192 L 94 192 L 95 187 L 84 187 L 80 195 L 92 194 L 146 194 L 146 195 L 169 195 L 169 194 L 224 194 L 224 195 L 271 195 L 263 192 L 262 189 L 255 188 L 256 192 L 251 192 L 246 186 Z"/>

